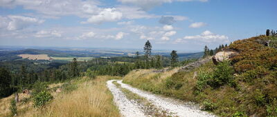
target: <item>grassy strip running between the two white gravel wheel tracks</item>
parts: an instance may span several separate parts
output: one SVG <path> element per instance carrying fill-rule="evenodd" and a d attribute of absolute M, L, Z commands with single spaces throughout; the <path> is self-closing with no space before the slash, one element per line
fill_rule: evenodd
<path fill-rule="evenodd" d="M 168 111 L 162 111 L 161 109 L 157 108 L 155 105 L 150 103 L 147 99 L 139 96 L 138 94 L 134 94 L 130 92 L 128 89 L 125 89 L 120 86 L 119 83 L 116 83 L 116 81 L 113 82 L 116 87 L 120 88 L 120 90 L 125 94 L 125 96 L 129 100 L 134 100 L 136 103 L 141 105 L 141 109 L 147 114 L 148 116 L 170 116 L 171 114 Z"/>

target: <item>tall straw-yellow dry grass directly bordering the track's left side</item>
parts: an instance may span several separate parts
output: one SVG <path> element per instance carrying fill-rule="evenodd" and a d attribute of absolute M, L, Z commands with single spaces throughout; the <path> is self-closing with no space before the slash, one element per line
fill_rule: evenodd
<path fill-rule="evenodd" d="M 93 81 L 80 83 L 69 94 L 60 94 L 46 108 L 34 116 L 120 116 L 113 96 L 106 87 L 110 76 L 98 76 Z"/>

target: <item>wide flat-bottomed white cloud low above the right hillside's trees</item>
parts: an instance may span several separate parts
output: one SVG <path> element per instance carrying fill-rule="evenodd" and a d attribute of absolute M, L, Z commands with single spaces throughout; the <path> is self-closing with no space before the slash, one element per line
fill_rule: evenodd
<path fill-rule="evenodd" d="M 213 34 L 206 30 L 200 35 L 185 36 L 184 39 L 202 41 L 205 43 L 229 43 L 229 37 L 225 35 Z"/>

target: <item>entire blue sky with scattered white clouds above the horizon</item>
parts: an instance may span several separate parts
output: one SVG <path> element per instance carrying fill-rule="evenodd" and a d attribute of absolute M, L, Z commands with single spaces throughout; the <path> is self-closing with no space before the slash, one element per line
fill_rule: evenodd
<path fill-rule="evenodd" d="M 276 0 L 0 0 L 0 46 L 202 51 L 277 30 Z"/>

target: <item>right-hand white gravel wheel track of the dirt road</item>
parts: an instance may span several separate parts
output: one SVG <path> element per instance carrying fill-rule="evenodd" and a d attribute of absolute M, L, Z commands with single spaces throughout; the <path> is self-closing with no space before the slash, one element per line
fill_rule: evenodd
<path fill-rule="evenodd" d="M 201 111 L 197 107 L 193 105 L 188 105 L 186 103 L 181 103 L 178 100 L 174 100 L 172 98 L 164 98 L 162 96 L 157 96 L 155 94 L 151 94 L 149 92 L 142 91 L 140 89 L 136 89 L 122 83 L 121 81 L 117 81 L 121 85 L 121 87 L 128 89 L 129 91 L 133 92 L 134 94 L 138 94 L 143 98 L 149 100 L 153 105 L 157 107 L 167 110 L 168 112 L 172 113 L 173 116 L 195 116 L 195 117 L 202 117 L 202 116 L 214 116 L 213 114 L 209 114 L 206 111 Z"/>

